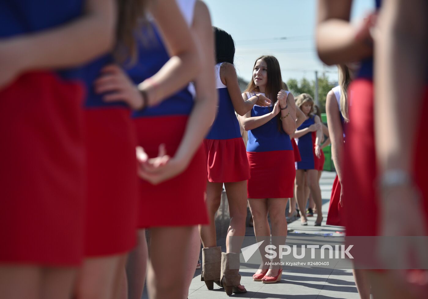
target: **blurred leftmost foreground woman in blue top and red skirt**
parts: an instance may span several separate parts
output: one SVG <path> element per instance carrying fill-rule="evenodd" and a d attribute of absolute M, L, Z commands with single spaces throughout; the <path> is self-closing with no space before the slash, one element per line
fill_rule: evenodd
<path fill-rule="evenodd" d="M 1 297 L 71 296 L 84 254 L 84 89 L 65 68 L 109 50 L 114 7 L 0 4 Z"/>

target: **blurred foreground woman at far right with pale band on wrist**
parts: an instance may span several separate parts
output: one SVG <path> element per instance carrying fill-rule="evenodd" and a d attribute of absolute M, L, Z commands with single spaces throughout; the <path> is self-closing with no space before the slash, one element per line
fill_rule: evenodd
<path fill-rule="evenodd" d="M 426 236 L 428 144 L 422 111 L 426 111 L 428 103 L 424 44 L 428 28 L 427 2 L 414 1 L 411 6 L 401 0 L 384 2 L 375 57 L 376 99 L 370 34 L 374 18 L 371 16 L 361 27 L 354 27 L 349 22 L 352 1 L 340 6 L 333 2 L 321 1 L 318 54 L 327 64 L 362 61 L 349 92 L 350 122 L 344 159 L 347 167 L 342 186 L 346 234 Z M 380 4 L 377 0 L 377 9 Z M 404 204 L 403 198 L 408 199 Z M 362 214 L 366 216 L 364 221 L 361 221 Z M 403 217 L 410 220 L 397 221 Z M 407 246 L 411 245 L 405 240 L 397 245 L 383 250 L 383 255 L 377 257 L 387 258 L 385 264 L 408 262 L 404 249 L 409 250 Z M 424 245 L 410 250 L 416 261 L 426 256 Z M 421 284 L 426 285 L 426 278 L 423 278 L 425 282 L 415 275 L 408 279 L 397 275 L 399 271 L 395 270 L 366 272 L 374 298 L 426 295 L 426 290 L 419 295 L 413 293 Z"/>

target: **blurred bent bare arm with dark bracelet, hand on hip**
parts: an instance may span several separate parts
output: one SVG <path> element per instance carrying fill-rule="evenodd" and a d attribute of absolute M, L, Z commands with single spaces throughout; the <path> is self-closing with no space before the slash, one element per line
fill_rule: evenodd
<path fill-rule="evenodd" d="M 104 75 L 95 81 L 96 91 L 99 94 L 106 93 L 104 101 L 125 101 L 132 109 L 140 110 L 145 104 L 142 97 L 144 91 L 147 95 L 146 104 L 154 106 L 184 88 L 198 74 L 204 54 L 196 48 L 192 37 L 196 33 L 190 32 L 175 0 L 158 0 L 150 10 L 162 31 L 170 59 L 153 77 L 138 86 L 129 80 L 118 65 L 105 67 L 101 71 Z"/>

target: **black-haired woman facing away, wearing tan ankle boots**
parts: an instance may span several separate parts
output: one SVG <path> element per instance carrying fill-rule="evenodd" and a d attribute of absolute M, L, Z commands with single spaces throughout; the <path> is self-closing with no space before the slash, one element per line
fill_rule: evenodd
<path fill-rule="evenodd" d="M 217 63 L 214 71 L 219 106 L 216 119 L 204 140 L 208 173 L 206 203 L 210 224 L 199 226 L 204 247 L 202 260 L 211 262 L 210 268 L 202 265 L 202 278 L 208 289 L 212 288 L 213 283 L 213 279 L 210 278 L 213 275 L 217 276 L 212 272 L 217 271 L 220 278 L 221 248 L 216 247 L 215 213 L 220 207 L 223 184 L 226 188 L 230 213 L 226 253 L 234 253 L 238 257 L 245 235 L 247 180 L 250 178 L 250 167 L 235 111 L 238 115 L 244 115 L 253 108 L 254 104 L 266 106 L 268 101 L 262 95 L 252 96 L 247 100 L 242 99 L 238 76 L 233 65 L 235 43 L 226 31 L 217 27 L 213 27 L 213 30 Z M 238 237 L 235 236 L 241 236 L 241 242 L 238 242 Z M 229 254 L 229 256 L 232 255 Z M 215 269 L 212 268 L 214 260 L 217 260 Z M 244 286 L 240 286 L 234 291 L 235 293 L 244 292 L 245 289 Z"/>

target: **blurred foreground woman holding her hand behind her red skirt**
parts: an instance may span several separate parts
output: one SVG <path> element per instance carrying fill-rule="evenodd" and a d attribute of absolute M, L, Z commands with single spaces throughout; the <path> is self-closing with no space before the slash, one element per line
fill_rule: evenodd
<path fill-rule="evenodd" d="M 201 57 L 197 62 L 204 70 L 214 68 L 214 38 L 208 9 L 201 1 L 171 1 L 169 5 L 175 9 L 181 6 L 184 16 L 175 26 L 180 33 L 175 34 L 176 39 L 171 39 L 171 32 L 159 21 L 171 18 L 165 12 L 167 8 L 155 5 L 151 13 L 156 24 L 149 19 L 149 24 L 139 29 L 145 40 L 137 43 L 136 63 L 131 68 L 127 68 L 126 62 L 123 64 L 127 73 L 108 66 L 103 72 L 110 72 L 109 76 L 97 82 L 103 86 L 100 92 L 113 92 L 105 95 L 105 100 L 126 101 L 137 109 L 132 117 L 140 146 L 138 171 L 143 178 L 137 225 L 150 228 L 147 283 L 151 298 L 183 298 L 187 294 L 185 269 L 191 264 L 194 271 L 199 255 L 199 245 L 195 250 L 191 240 L 194 233 L 198 237 L 197 225 L 208 224 L 202 139 L 214 120 L 217 104 L 213 72 L 204 71 L 194 76 L 194 98 L 189 75 L 199 68 L 194 63 L 185 65 L 183 60 L 178 60 L 175 55 L 181 52 L 175 52 L 172 47 L 181 44 L 178 40 L 183 38 L 181 32 L 188 31 L 194 23 L 200 52 L 187 53 L 185 57 Z M 189 42 L 193 44 L 192 40 Z M 186 76 L 178 72 L 184 65 L 188 70 Z M 171 68 L 177 71 L 169 72 L 171 76 L 166 78 L 165 71 Z M 183 78 L 187 78 L 187 83 Z M 178 92 L 172 88 L 177 84 L 181 84 Z"/>

